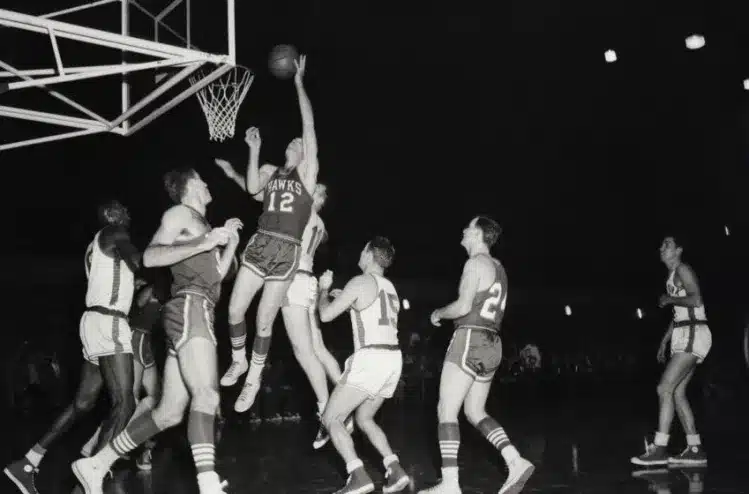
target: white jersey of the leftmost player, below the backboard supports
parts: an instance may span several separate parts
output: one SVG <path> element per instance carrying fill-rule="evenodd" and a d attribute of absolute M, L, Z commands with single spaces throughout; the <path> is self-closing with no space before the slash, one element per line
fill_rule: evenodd
<path fill-rule="evenodd" d="M 119 256 L 102 252 L 100 235 L 101 230 L 86 249 L 86 307 L 105 307 L 127 314 L 133 302 L 135 275 Z"/>

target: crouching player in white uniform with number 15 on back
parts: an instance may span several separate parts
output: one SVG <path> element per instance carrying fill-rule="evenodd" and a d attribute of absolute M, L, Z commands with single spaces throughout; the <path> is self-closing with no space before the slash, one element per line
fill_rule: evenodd
<path fill-rule="evenodd" d="M 326 271 L 320 277 L 320 320 L 330 322 L 349 310 L 354 333 L 354 353 L 346 360 L 346 370 L 322 419 L 349 474 L 346 485 L 336 494 L 364 494 L 374 490 L 344 425 L 353 412 L 359 429 L 382 455 L 387 478 L 382 492 L 400 492 L 411 483 L 385 433 L 374 421 L 384 401 L 393 397 L 403 368 L 398 346 L 400 300 L 384 275 L 394 257 L 395 249 L 388 239 L 373 238 L 359 256 L 363 274 L 349 281 L 332 302 L 328 291 L 333 284 L 333 273 Z"/>

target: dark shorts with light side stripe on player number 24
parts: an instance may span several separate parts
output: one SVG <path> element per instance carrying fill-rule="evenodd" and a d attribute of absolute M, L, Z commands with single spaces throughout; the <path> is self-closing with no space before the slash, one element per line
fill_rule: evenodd
<path fill-rule="evenodd" d="M 445 362 L 457 365 L 476 381 L 489 382 L 502 362 L 502 339 L 488 329 L 457 328 Z"/>

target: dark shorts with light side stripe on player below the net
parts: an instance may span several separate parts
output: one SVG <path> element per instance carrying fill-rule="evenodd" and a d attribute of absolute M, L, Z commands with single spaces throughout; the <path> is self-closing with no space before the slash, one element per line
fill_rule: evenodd
<path fill-rule="evenodd" d="M 176 355 L 185 343 L 194 338 L 203 338 L 216 345 L 213 310 L 214 304 L 208 297 L 192 292 L 178 293 L 164 304 L 161 318 L 169 355 Z"/>

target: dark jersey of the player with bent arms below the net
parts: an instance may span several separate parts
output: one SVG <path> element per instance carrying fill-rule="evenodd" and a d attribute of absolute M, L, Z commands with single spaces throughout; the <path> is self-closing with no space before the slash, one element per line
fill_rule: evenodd
<path fill-rule="evenodd" d="M 203 216 L 196 211 L 193 214 L 210 228 Z M 180 292 L 197 293 L 216 303 L 221 295 L 219 258 L 219 249 L 214 248 L 172 265 L 172 296 Z"/>

